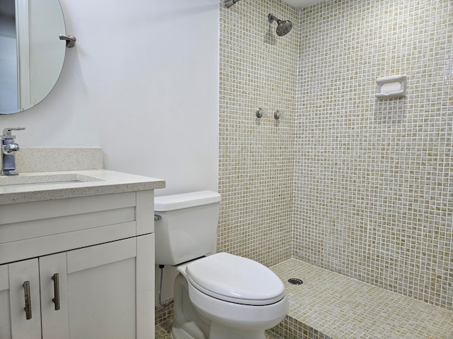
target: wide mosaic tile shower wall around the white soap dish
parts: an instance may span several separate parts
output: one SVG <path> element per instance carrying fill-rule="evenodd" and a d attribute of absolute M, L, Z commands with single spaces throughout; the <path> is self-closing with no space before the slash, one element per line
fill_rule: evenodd
<path fill-rule="evenodd" d="M 453 300 L 453 1 L 327 1 L 299 20 L 294 255 Z M 374 97 L 405 74 L 404 99 Z"/>

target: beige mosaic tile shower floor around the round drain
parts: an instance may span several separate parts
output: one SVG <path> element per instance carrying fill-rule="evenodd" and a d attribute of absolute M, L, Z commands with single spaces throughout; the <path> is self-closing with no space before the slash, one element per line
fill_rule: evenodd
<path fill-rule="evenodd" d="M 289 297 L 287 318 L 272 330 L 282 338 L 453 338 L 453 311 L 297 259 L 271 269 Z M 303 284 L 289 284 L 289 278 Z"/>

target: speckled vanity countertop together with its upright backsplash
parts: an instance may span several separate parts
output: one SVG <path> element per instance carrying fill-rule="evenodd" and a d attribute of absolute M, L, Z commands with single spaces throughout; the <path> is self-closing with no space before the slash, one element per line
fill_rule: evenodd
<path fill-rule="evenodd" d="M 0 176 L 0 205 L 165 187 L 162 179 L 103 169 L 99 147 L 21 147 L 16 167 L 18 175 Z"/>

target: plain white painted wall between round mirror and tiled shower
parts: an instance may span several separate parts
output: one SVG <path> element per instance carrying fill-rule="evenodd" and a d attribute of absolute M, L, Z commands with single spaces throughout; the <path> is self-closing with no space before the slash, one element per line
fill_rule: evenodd
<path fill-rule="evenodd" d="M 101 146 L 104 167 L 217 189 L 219 1 L 61 0 L 62 75 L 28 111 L 0 116 L 23 146 Z"/>

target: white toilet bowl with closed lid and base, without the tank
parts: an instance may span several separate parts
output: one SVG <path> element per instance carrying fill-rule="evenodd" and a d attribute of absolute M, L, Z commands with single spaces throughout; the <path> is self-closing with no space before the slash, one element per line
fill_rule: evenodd
<path fill-rule="evenodd" d="M 180 316 L 176 317 L 175 339 L 264 339 L 264 331 L 287 314 L 285 286 L 272 270 L 256 261 L 218 253 L 176 267 L 186 284 L 178 295 L 190 299 L 193 309 L 182 309 L 175 298 L 175 313 L 181 311 L 185 318 L 179 321 Z M 187 323 L 193 322 L 190 314 L 194 310 L 207 320 L 205 336 L 185 332 Z"/>

